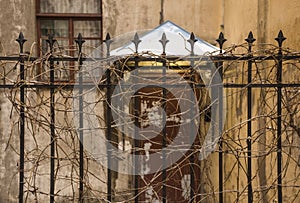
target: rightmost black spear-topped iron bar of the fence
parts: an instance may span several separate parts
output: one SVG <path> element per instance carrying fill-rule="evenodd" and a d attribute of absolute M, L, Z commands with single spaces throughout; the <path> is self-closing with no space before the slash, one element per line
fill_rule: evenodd
<path fill-rule="evenodd" d="M 278 51 L 278 67 L 277 67 L 277 84 L 279 85 L 277 88 L 277 190 L 278 190 L 278 202 L 282 202 L 282 146 L 281 146 L 281 122 L 282 122 L 282 43 L 286 38 L 283 36 L 282 31 L 280 30 L 278 33 L 278 37 L 275 38 L 279 45 Z"/>

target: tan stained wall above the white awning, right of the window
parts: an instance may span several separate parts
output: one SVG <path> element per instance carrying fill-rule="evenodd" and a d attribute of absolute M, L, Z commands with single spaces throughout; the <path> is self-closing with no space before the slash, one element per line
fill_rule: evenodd
<path fill-rule="evenodd" d="M 221 30 L 221 0 L 130 0 L 103 1 L 103 30 L 118 36 L 157 27 L 160 20 L 170 20 L 210 43 Z"/>

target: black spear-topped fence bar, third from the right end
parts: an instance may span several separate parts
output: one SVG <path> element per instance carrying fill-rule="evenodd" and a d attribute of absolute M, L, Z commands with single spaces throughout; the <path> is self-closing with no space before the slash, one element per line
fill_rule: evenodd
<path fill-rule="evenodd" d="M 219 35 L 219 38 L 216 40 L 219 44 L 219 47 L 220 47 L 220 55 L 222 55 L 223 53 L 223 44 L 227 41 L 227 39 L 224 38 L 224 35 L 223 33 L 221 32 L 220 35 Z M 218 64 L 218 71 L 219 71 L 219 74 L 221 76 L 221 79 L 223 81 L 223 61 L 220 61 L 217 63 Z M 221 89 L 222 90 L 222 89 Z M 222 118 L 221 118 L 221 115 L 222 115 L 222 112 L 221 109 L 223 107 L 223 92 L 221 92 L 220 90 L 218 91 L 219 92 L 219 132 L 218 133 L 221 133 L 220 129 L 222 130 Z M 220 95 L 221 94 L 221 95 Z M 220 138 L 220 144 L 219 144 L 219 203 L 223 203 L 223 142 L 222 142 L 222 138 Z"/>

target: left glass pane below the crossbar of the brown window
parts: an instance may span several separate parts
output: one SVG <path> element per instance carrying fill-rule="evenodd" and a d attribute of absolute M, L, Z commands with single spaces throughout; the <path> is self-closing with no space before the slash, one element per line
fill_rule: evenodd
<path fill-rule="evenodd" d="M 41 35 L 54 37 L 68 37 L 69 23 L 67 20 L 41 20 Z"/>

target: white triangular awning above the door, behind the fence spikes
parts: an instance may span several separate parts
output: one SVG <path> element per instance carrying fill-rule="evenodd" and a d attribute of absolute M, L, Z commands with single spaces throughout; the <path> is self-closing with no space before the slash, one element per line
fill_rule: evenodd
<path fill-rule="evenodd" d="M 151 52 L 156 55 L 162 54 L 162 44 L 159 40 L 162 38 L 163 33 L 166 34 L 167 40 L 169 40 L 166 45 L 166 55 L 187 56 L 191 54 L 191 45 L 187 41 L 190 38 L 190 33 L 171 21 L 167 21 L 150 32 L 140 36 L 141 42 L 138 46 L 138 52 Z M 219 50 L 219 48 L 202 39 L 196 39 L 197 41 L 194 46 L 195 55 L 204 55 Z M 133 42 L 129 42 L 127 45 L 112 50 L 110 55 L 124 56 L 133 54 L 134 52 L 135 45 Z"/>

